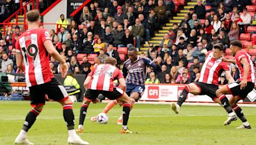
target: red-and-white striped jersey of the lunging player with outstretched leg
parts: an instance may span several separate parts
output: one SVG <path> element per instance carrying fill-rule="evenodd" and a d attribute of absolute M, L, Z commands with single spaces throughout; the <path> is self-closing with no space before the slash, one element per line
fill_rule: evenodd
<path fill-rule="evenodd" d="M 214 59 L 213 52 L 211 52 L 200 72 L 199 82 L 218 85 L 219 77 L 223 71 L 229 71 L 228 63 L 221 59 Z"/>

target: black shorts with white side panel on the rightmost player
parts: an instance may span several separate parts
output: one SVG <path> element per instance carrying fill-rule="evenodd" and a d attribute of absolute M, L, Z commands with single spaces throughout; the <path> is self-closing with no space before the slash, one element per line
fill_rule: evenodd
<path fill-rule="evenodd" d="M 241 90 L 240 89 L 240 83 L 241 81 L 236 81 L 234 83 L 230 83 L 227 84 L 228 90 L 229 92 L 233 95 L 239 95 L 239 97 L 241 97 L 241 99 L 245 99 L 246 96 L 248 95 L 248 93 L 252 92 L 253 88 L 254 88 L 254 83 L 252 83 L 251 81 L 247 82 L 247 86 Z"/>

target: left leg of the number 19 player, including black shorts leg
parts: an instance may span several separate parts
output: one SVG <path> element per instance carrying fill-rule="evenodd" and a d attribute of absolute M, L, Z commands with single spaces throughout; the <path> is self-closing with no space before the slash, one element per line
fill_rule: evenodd
<path fill-rule="evenodd" d="M 23 127 L 15 139 L 15 144 L 33 144 L 28 141 L 27 132 L 29 128 L 32 127 L 33 123 L 35 123 L 36 117 L 40 114 L 45 104 L 45 96 L 38 86 L 31 86 L 29 87 L 29 90 L 31 95 L 31 106 L 33 108 L 27 114 Z"/>

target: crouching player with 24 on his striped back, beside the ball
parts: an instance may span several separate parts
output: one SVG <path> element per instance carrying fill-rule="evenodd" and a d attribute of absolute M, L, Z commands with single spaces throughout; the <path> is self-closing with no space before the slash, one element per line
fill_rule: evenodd
<path fill-rule="evenodd" d="M 117 100 L 123 104 L 123 127 L 121 133 L 132 134 L 127 127 L 129 113 L 131 108 L 131 99 L 124 92 L 126 90 L 125 79 L 123 73 L 115 67 L 116 59 L 113 57 L 106 57 L 105 64 L 100 64 L 95 67 L 90 74 L 88 74 L 84 81 L 84 87 L 87 89 L 84 93 L 84 101 L 81 106 L 79 116 L 78 132 L 82 132 L 84 118 L 86 116 L 87 108 L 90 102 L 97 102 L 97 97 L 101 93 L 110 100 Z M 120 88 L 115 88 L 113 81 L 118 79 Z"/>

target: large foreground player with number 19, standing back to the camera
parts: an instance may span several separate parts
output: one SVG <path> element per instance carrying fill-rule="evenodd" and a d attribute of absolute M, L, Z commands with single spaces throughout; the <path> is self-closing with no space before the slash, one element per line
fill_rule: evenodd
<path fill-rule="evenodd" d="M 41 20 L 37 10 L 26 13 L 26 22 L 28 23 L 28 30 L 16 42 L 16 60 L 19 69 L 25 72 L 33 108 L 27 114 L 22 130 L 15 139 L 15 144 L 33 144 L 28 141 L 27 132 L 44 107 L 45 94 L 49 99 L 56 100 L 63 106 L 63 117 L 68 128 L 68 143 L 89 144 L 76 134 L 72 102 L 68 99 L 65 88 L 54 78 L 49 66 L 51 55 L 60 62 L 61 76 L 64 78 L 68 70 L 65 60 L 54 49 L 49 32 L 39 28 Z"/>

